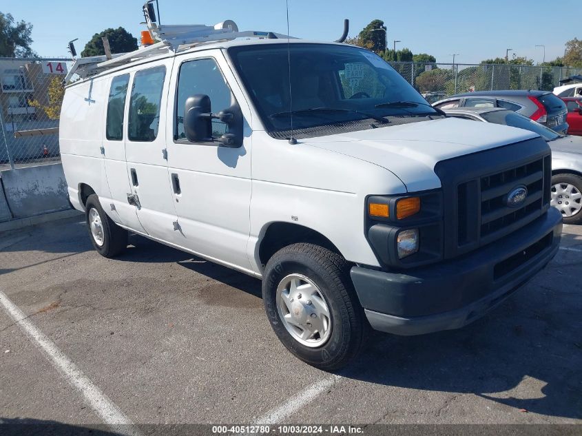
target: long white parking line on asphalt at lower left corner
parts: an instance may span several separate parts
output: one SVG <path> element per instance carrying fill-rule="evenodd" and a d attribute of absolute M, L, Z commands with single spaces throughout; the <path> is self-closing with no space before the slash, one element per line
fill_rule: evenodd
<path fill-rule="evenodd" d="M 124 435 L 141 436 L 142 433 L 134 423 L 109 399 L 101 389 L 95 386 L 69 358 L 59 350 L 54 342 L 46 337 L 26 315 L 10 301 L 5 293 L 0 291 L 0 302 L 6 313 L 30 337 L 30 340 L 39 346 L 47 355 L 54 367 L 61 372 L 72 386 L 77 388 L 85 402 L 103 419 L 105 424 L 112 426 L 116 432 Z"/>

